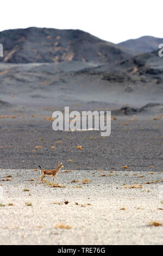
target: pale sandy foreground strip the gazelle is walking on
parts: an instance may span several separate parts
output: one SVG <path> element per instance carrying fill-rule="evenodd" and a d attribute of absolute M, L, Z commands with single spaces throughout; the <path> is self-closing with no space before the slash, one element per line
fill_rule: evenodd
<path fill-rule="evenodd" d="M 0 207 L 1 245 L 163 243 L 163 225 L 148 225 L 151 221 L 163 223 L 163 172 L 61 170 L 58 178 L 66 186 L 63 188 L 40 182 L 35 186 L 39 173 L 1 170 L 1 202 L 5 205 Z M 83 184 L 83 180 L 88 181 Z M 132 184 L 142 188 L 129 188 Z M 60 224 L 70 229 L 59 228 Z"/>

